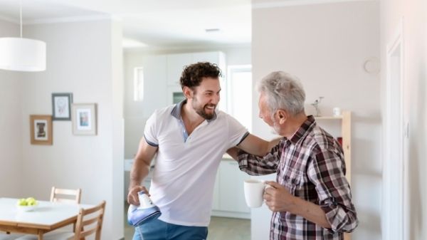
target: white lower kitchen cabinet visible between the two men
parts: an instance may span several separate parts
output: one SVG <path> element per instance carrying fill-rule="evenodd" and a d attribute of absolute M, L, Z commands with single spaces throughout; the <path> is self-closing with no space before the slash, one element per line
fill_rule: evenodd
<path fill-rule="evenodd" d="M 213 216 L 251 218 L 251 209 L 246 206 L 243 191 L 243 182 L 249 178 L 248 174 L 241 172 L 235 160 L 221 160 L 214 187 Z"/>

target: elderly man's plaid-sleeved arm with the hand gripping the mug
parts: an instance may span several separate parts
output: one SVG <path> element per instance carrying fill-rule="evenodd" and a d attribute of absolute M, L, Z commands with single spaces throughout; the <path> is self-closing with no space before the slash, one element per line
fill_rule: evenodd
<path fill-rule="evenodd" d="M 271 187 L 265 189 L 265 203 L 273 212 L 290 212 L 332 231 L 353 231 L 359 221 L 342 158 L 339 152 L 324 150 L 308 165 L 307 177 L 316 186 L 318 203 L 290 194 L 277 182 L 266 182 Z"/>

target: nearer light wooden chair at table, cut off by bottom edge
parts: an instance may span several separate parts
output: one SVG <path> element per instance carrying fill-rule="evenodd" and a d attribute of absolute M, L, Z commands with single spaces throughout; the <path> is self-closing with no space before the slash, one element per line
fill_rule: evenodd
<path fill-rule="evenodd" d="M 95 207 L 80 209 L 75 224 L 75 231 L 49 232 L 43 235 L 44 240 L 80 240 L 95 234 L 95 240 L 101 239 L 102 221 L 105 213 L 105 201 Z M 19 240 L 33 240 L 35 235 L 26 235 Z M 18 240 L 18 239 L 17 239 Z"/>

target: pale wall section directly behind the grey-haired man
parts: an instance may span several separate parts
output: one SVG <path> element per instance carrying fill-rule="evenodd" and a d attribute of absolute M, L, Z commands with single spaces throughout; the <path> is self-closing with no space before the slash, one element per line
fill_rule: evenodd
<path fill-rule="evenodd" d="M 252 16 L 254 82 L 288 71 L 305 86 L 307 113 L 319 96 L 325 115 L 335 106 L 352 111 L 352 195 L 360 221 L 352 239 L 381 239 L 380 83 L 362 68 L 379 57 L 379 2 L 255 7 Z M 270 138 L 254 96 L 253 132 Z M 270 214 L 252 216 L 253 240 L 267 239 Z"/>

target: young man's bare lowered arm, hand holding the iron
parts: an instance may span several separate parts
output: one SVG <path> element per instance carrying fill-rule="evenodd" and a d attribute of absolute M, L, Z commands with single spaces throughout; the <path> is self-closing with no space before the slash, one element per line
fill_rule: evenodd
<path fill-rule="evenodd" d="M 129 204 L 139 205 L 137 193 L 145 189 L 141 186 L 141 182 L 148 175 L 149 165 L 157 149 L 158 147 L 149 145 L 144 137 L 139 141 L 138 152 L 135 156 L 132 169 L 130 169 L 129 193 L 127 194 L 127 202 Z M 145 190 L 147 191 L 147 189 Z"/>

